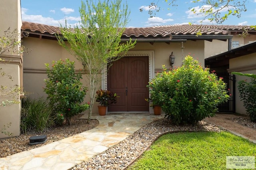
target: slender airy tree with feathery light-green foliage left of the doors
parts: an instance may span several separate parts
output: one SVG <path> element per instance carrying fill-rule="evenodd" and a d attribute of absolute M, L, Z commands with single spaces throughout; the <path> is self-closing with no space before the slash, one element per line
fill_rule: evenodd
<path fill-rule="evenodd" d="M 101 82 L 100 75 L 107 70 L 107 64 L 120 59 L 136 42 L 132 43 L 130 40 L 120 43 L 129 16 L 127 4 L 122 6 L 122 0 L 103 0 L 98 4 L 94 0 L 86 0 L 86 3 L 82 2 L 79 12 L 80 26 L 74 29 L 67 26 L 61 28 L 63 37 L 57 35 L 57 38 L 60 45 L 73 54 L 88 72 L 90 122 L 96 91 Z"/>

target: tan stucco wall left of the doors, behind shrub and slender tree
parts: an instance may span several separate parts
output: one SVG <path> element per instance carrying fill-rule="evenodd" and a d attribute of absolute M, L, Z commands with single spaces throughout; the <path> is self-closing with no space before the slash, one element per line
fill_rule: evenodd
<path fill-rule="evenodd" d="M 47 79 L 45 63 L 51 65 L 52 61 L 69 58 L 70 61 L 75 61 L 75 69 L 79 70 L 82 64 L 77 61 L 66 49 L 58 44 L 55 40 L 46 40 L 39 38 L 23 38 L 23 45 L 30 49 L 29 53 L 24 53 L 24 91 L 27 96 L 32 99 L 43 97 L 46 99 L 47 95 L 43 91 L 45 87 L 44 79 Z M 86 75 L 83 75 L 82 83 L 88 87 Z M 101 84 L 101 83 L 100 83 Z M 89 93 L 84 99 L 89 101 Z M 95 103 L 93 112 L 98 112 L 98 103 Z M 87 112 L 87 111 L 86 111 Z"/>

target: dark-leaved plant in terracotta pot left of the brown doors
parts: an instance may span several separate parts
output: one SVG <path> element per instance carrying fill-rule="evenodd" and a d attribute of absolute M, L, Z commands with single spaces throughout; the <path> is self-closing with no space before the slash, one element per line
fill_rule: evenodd
<path fill-rule="evenodd" d="M 96 101 L 100 102 L 100 106 L 98 106 L 98 111 L 100 116 L 106 115 L 107 106 L 117 102 L 117 95 L 116 93 L 111 93 L 108 90 L 98 90 L 96 91 Z"/>

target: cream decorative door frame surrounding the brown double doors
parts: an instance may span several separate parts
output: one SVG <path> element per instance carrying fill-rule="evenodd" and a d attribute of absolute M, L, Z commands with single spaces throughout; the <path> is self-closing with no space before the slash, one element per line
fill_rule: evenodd
<path fill-rule="evenodd" d="M 154 50 L 132 50 L 127 51 L 126 57 L 148 57 L 148 79 L 149 81 L 154 78 L 155 75 L 155 53 Z M 107 67 L 102 71 L 102 89 L 108 88 L 108 76 L 107 76 Z M 149 113 L 153 113 L 152 107 L 149 107 Z"/>

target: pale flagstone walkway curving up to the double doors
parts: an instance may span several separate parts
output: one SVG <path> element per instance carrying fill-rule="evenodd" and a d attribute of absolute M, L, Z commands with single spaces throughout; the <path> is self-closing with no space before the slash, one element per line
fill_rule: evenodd
<path fill-rule="evenodd" d="M 84 115 L 84 119 L 87 119 Z M 96 128 L 74 136 L 0 158 L 0 170 L 68 170 L 121 142 L 144 125 L 163 118 L 149 113 L 93 114 Z"/>

